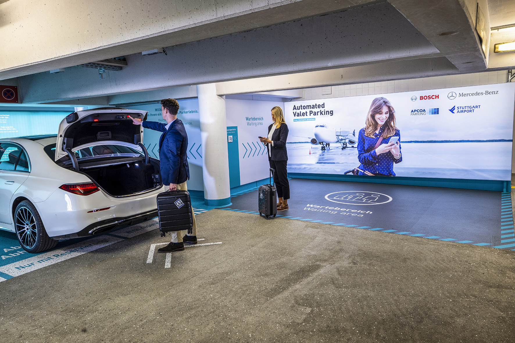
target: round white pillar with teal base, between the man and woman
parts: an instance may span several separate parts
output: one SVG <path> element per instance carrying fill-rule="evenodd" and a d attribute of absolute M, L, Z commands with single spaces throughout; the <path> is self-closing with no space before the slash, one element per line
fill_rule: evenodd
<path fill-rule="evenodd" d="M 204 203 L 226 206 L 231 203 L 225 97 L 216 95 L 216 85 L 197 85 L 202 139 Z"/>

